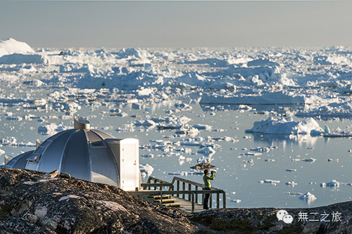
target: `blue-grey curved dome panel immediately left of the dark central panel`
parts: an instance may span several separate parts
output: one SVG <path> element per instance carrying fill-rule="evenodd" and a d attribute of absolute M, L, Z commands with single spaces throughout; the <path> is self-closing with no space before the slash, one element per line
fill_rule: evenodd
<path fill-rule="evenodd" d="M 41 144 L 46 145 L 47 141 L 54 140 L 49 143 L 49 145 L 46 145 L 46 149 L 42 152 L 42 157 L 39 160 L 39 166 L 37 167 L 38 171 L 50 172 L 60 170 L 61 155 L 63 155 L 63 151 L 65 150 L 66 141 L 68 141 L 72 134 L 75 134 L 75 131 L 77 130 L 70 129 L 63 131 L 56 134 L 58 136 L 51 136 L 51 138 L 48 138 Z M 41 145 L 39 145 L 39 148 L 41 148 Z M 39 148 L 37 150 L 39 150 Z"/>

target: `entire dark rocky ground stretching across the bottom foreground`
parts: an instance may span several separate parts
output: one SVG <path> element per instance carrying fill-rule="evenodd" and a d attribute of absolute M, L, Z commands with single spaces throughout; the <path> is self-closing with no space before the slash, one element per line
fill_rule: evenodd
<path fill-rule="evenodd" d="M 47 177 L 38 171 L 0 169 L 0 234 L 352 233 L 352 202 L 285 209 L 292 223 L 279 221 L 275 208 L 210 209 L 191 216 L 114 186 Z"/>

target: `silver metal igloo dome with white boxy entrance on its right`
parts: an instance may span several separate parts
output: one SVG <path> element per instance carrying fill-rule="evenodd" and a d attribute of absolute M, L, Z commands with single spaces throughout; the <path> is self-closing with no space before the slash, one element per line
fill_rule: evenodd
<path fill-rule="evenodd" d="M 75 178 L 136 190 L 140 186 L 139 141 L 118 139 L 103 131 L 90 129 L 81 117 L 75 129 L 47 138 L 36 150 L 24 152 L 4 165 L 50 172 L 58 169 Z"/>

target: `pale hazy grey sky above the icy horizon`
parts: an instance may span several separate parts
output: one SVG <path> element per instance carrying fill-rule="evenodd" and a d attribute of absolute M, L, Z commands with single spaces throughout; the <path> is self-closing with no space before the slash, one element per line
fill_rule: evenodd
<path fill-rule="evenodd" d="M 37 47 L 352 46 L 352 1 L 4 1 L 0 39 Z"/>

